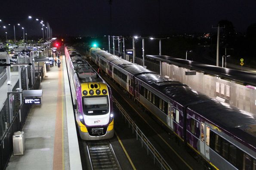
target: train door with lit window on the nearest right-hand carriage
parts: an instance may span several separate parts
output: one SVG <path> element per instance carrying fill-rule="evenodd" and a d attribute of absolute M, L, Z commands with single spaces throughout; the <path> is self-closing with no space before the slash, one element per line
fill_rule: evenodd
<path fill-rule="evenodd" d="M 208 125 L 205 125 L 201 122 L 200 127 L 200 152 L 203 154 L 207 159 L 210 159 L 210 128 Z"/>

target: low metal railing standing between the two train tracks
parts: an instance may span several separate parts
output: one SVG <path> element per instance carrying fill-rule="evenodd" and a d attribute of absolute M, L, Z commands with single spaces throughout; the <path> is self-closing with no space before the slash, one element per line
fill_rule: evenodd
<path fill-rule="evenodd" d="M 167 164 L 167 162 L 163 159 L 163 157 L 160 155 L 160 153 L 155 149 L 155 147 L 152 145 L 152 143 L 148 140 L 148 138 L 142 133 L 142 131 L 139 129 L 139 127 L 136 125 L 136 123 L 133 122 L 133 119 L 129 116 L 128 113 L 123 109 L 123 107 L 117 102 L 115 98 L 113 98 L 114 103 L 116 104 L 119 111 L 122 113 L 122 116 L 125 117 L 125 122 L 128 121 L 128 127 L 132 126 L 133 133 L 136 132 L 136 138 L 137 140 L 140 139 L 147 147 L 147 152 L 151 152 L 151 154 L 154 156 L 154 164 L 155 160 L 158 161 L 158 163 L 161 166 L 161 170 L 172 170 L 172 168 Z"/>

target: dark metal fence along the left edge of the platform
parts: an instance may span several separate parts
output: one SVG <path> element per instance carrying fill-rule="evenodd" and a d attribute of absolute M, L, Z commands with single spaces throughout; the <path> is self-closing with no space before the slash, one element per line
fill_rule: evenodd
<path fill-rule="evenodd" d="M 22 69 L 24 72 L 24 68 Z M 38 69 L 37 69 L 38 70 Z M 30 73 L 30 72 L 29 72 Z M 40 81 L 43 76 L 43 67 L 36 72 L 36 78 L 34 84 L 31 85 L 30 89 L 39 89 Z M 23 80 L 24 78 L 22 78 Z M 19 81 L 13 86 L 12 91 L 15 92 L 16 88 L 19 87 Z M 3 104 L 2 110 L 0 110 L 0 170 L 4 170 L 7 166 L 9 158 L 12 155 L 12 135 L 15 131 L 21 131 L 25 120 L 28 116 L 31 105 L 20 104 L 20 94 L 12 93 L 13 101 L 11 108 L 9 109 L 8 98 Z M 12 110 L 12 118 L 10 117 L 10 110 Z"/>

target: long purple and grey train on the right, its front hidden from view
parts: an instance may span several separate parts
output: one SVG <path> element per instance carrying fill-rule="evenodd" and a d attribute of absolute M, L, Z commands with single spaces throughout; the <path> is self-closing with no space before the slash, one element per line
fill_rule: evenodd
<path fill-rule="evenodd" d="M 256 116 L 99 48 L 91 60 L 215 169 L 256 170 Z"/>

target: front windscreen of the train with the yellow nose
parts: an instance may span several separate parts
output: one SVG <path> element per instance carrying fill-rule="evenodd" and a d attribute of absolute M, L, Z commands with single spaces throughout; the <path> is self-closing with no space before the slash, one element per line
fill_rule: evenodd
<path fill-rule="evenodd" d="M 100 115 L 108 113 L 108 96 L 83 97 L 83 112 L 86 115 Z"/>

